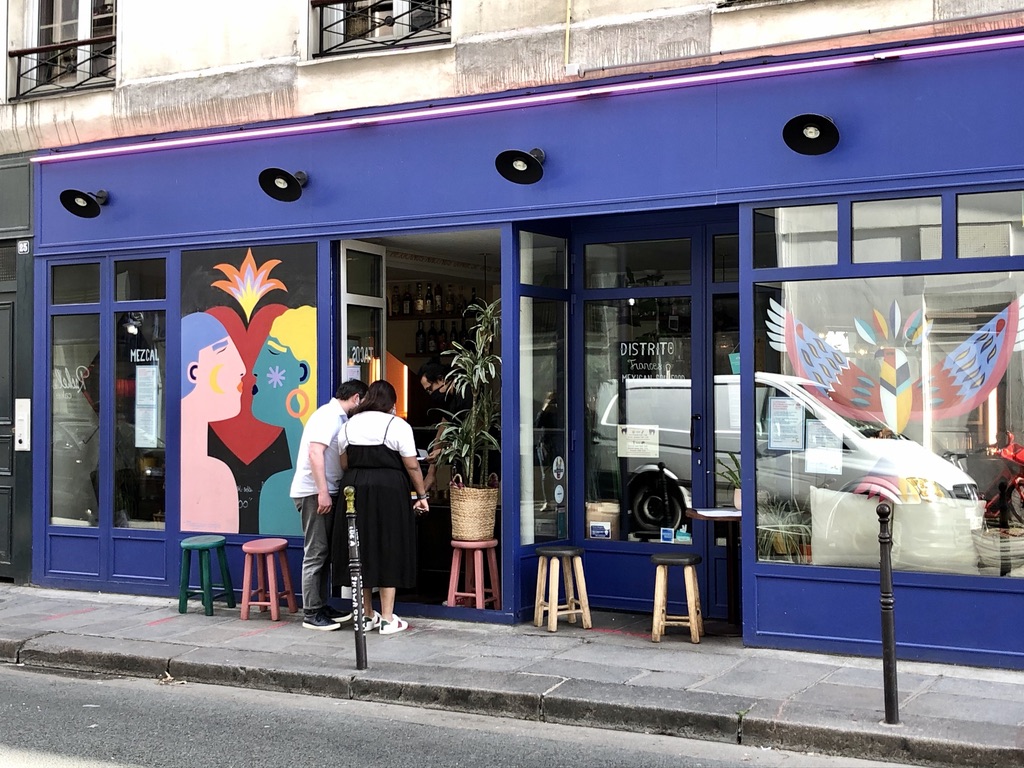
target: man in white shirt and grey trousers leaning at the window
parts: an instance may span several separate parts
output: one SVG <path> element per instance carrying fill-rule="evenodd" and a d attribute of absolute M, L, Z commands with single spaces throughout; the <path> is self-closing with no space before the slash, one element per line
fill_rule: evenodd
<path fill-rule="evenodd" d="M 367 385 L 350 379 L 334 397 L 313 412 L 302 430 L 295 461 L 291 497 L 302 515 L 302 626 L 307 630 L 337 630 L 352 617 L 328 604 L 331 585 L 331 530 L 341 486 L 338 433 L 349 412 L 359 404 Z"/>

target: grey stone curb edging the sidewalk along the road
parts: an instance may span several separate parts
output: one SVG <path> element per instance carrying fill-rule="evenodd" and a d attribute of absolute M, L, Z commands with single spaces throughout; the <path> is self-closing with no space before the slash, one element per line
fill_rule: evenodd
<path fill-rule="evenodd" d="M 490 673 L 380 663 L 364 672 L 328 673 L 319 659 L 265 651 L 194 646 L 6 629 L 0 660 L 27 667 L 131 677 L 163 677 L 258 690 L 425 707 L 562 725 L 659 733 L 751 746 L 771 746 L 949 768 L 1020 768 L 1024 745 L 1007 738 L 1021 729 L 975 728 L 975 738 L 943 739 L 899 726 L 860 723 L 843 728 L 768 718 L 779 701 L 565 680 L 547 675 Z M 920 719 L 919 719 L 920 720 Z M 932 724 L 938 722 L 929 719 Z M 887 730 L 893 728 L 893 730 Z M 990 738 L 991 737 L 991 738 Z M 988 741 L 988 742 L 986 742 Z"/>

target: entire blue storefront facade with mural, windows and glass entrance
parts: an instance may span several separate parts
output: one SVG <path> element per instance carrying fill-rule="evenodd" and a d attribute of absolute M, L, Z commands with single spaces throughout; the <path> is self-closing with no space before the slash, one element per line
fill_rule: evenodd
<path fill-rule="evenodd" d="M 844 521 L 891 499 L 901 655 L 1024 666 L 1024 561 L 999 545 L 1024 520 L 970 461 L 1024 430 L 1022 66 L 1024 36 L 949 40 L 33 158 L 33 582 L 174 594 L 195 531 L 238 572 L 248 538 L 288 536 L 297 572 L 296 430 L 387 375 L 388 245 L 486 230 L 504 607 L 408 611 L 525 621 L 549 541 L 585 547 L 592 606 L 649 611 L 650 555 L 687 548 L 746 644 L 871 655 L 877 521 Z M 536 182 L 498 172 L 534 147 Z M 307 176 L 297 200 L 267 168 Z M 905 439 L 862 447 L 844 430 L 868 416 Z M 731 506 L 730 455 L 738 565 L 682 514 Z"/>

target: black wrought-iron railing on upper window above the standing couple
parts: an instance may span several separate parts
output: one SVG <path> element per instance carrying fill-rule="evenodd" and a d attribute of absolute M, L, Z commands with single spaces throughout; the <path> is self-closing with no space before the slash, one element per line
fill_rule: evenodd
<path fill-rule="evenodd" d="M 310 5 L 319 29 L 314 57 L 452 40 L 451 0 L 310 0 Z"/>

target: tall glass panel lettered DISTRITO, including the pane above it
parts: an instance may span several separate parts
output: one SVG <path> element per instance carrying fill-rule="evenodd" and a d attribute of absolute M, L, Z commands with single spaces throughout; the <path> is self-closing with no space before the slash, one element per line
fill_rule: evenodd
<path fill-rule="evenodd" d="M 691 543 L 685 511 L 702 464 L 693 240 L 584 247 L 587 539 Z"/>

